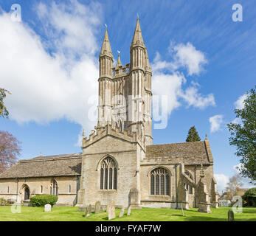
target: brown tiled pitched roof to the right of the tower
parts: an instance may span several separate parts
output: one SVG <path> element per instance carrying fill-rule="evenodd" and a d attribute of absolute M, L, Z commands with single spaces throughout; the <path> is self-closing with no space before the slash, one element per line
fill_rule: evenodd
<path fill-rule="evenodd" d="M 213 162 L 210 145 L 205 141 L 149 145 L 147 159 L 182 157 L 184 164 L 210 164 Z"/>

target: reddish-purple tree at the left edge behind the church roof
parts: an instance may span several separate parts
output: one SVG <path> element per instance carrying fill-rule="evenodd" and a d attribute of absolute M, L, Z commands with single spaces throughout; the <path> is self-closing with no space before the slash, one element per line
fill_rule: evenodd
<path fill-rule="evenodd" d="M 0 173 L 17 162 L 21 142 L 7 131 L 0 131 Z"/>

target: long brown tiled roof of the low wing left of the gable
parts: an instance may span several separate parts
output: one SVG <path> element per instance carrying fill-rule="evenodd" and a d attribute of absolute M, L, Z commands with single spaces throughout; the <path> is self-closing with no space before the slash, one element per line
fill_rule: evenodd
<path fill-rule="evenodd" d="M 20 160 L 0 173 L 0 178 L 29 178 L 46 176 L 80 176 L 82 153 L 38 156 Z"/>

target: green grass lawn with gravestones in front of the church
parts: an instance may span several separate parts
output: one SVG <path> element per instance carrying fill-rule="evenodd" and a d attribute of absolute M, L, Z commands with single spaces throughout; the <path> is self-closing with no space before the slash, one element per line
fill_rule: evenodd
<path fill-rule="evenodd" d="M 120 209 L 116 209 L 117 218 L 112 221 L 227 221 L 227 212 L 231 207 L 212 208 L 212 213 L 201 213 L 196 208 L 180 209 L 127 209 L 122 218 L 118 218 Z M 21 213 L 12 213 L 10 206 L 0 206 L 0 221 L 108 221 L 107 212 L 91 213 L 88 218 L 84 212 L 78 212 L 75 206 L 54 206 L 52 212 L 44 212 L 44 207 L 21 206 Z M 235 221 L 256 221 L 256 208 L 243 208 L 243 213 L 235 213 Z"/>

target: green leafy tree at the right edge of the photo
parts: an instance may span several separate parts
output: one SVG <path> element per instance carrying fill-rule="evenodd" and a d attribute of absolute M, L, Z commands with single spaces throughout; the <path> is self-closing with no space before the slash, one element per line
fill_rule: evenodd
<path fill-rule="evenodd" d="M 255 86 L 256 88 L 256 86 Z M 237 147 L 237 156 L 241 156 L 241 176 L 247 177 L 256 184 L 256 95 L 255 89 L 246 93 L 244 107 L 235 109 L 235 114 L 241 123 L 229 123 L 231 133 L 229 144 Z"/>

